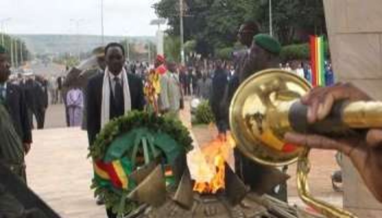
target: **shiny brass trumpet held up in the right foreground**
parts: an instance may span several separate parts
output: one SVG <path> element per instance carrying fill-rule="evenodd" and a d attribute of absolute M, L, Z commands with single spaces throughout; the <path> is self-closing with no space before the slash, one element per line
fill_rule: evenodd
<path fill-rule="evenodd" d="M 244 81 L 230 105 L 230 126 L 238 149 L 247 157 L 269 166 L 297 163 L 300 198 L 327 217 L 356 217 L 309 193 L 309 149 L 286 144 L 286 132 L 327 136 L 359 134 L 358 129 L 382 128 L 382 102 L 339 102 L 329 117 L 308 124 L 307 108 L 299 98 L 311 89 L 303 78 L 281 69 L 258 72 Z"/>

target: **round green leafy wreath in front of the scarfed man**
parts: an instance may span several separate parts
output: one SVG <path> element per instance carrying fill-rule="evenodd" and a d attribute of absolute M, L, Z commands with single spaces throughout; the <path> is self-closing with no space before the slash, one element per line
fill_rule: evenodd
<path fill-rule="evenodd" d="M 97 163 L 111 166 L 113 161 L 118 161 L 128 177 L 137 169 L 139 161 L 148 164 L 159 157 L 161 163 L 174 166 L 176 158 L 191 149 L 192 139 L 180 121 L 154 113 L 131 111 L 110 121 L 101 130 L 89 147 L 89 157 L 93 159 L 94 168 L 98 168 Z M 136 159 L 139 151 L 144 154 L 140 160 Z M 102 173 L 94 171 L 91 188 L 95 197 L 104 199 L 107 208 L 112 208 L 114 213 L 125 214 L 139 206 L 125 197 L 136 187 L 134 181 L 129 179 L 128 184 L 118 187 L 113 179 L 102 178 Z M 169 178 L 169 182 L 173 179 Z"/>

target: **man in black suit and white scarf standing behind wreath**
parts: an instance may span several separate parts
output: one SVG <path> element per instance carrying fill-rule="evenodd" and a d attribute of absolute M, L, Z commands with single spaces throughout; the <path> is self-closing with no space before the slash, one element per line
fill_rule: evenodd
<path fill-rule="evenodd" d="M 113 118 L 130 110 L 143 110 L 143 83 L 134 74 L 127 74 L 125 50 L 121 44 L 110 43 L 105 47 L 106 69 L 96 74 L 87 84 L 87 135 L 92 146 L 100 129 Z M 107 209 L 108 217 L 117 215 Z"/>

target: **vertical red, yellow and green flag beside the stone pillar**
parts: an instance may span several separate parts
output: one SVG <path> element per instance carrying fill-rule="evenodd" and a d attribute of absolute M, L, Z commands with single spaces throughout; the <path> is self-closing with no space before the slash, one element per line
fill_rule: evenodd
<path fill-rule="evenodd" d="M 312 86 L 325 86 L 325 49 L 323 36 L 310 36 Z"/>

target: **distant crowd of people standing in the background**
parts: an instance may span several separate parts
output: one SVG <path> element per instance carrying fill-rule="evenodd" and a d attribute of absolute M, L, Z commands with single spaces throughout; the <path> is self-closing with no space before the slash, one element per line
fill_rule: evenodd
<path fill-rule="evenodd" d="M 150 69 L 153 68 L 155 68 L 154 63 L 146 61 L 126 61 L 125 64 L 126 72 L 136 74 L 144 83 L 148 79 Z M 174 73 L 177 75 L 182 96 L 209 100 L 213 104 L 215 99 L 222 98 L 222 96 L 217 97 L 216 95 L 224 93 L 224 84 L 233 78 L 234 69 L 235 63 L 232 61 L 195 60 L 189 61 L 186 66 L 176 64 Z M 280 63 L 280 69 L 296 73 L 311 82 L 312 73 L 309 61 L 294 60 Z M 62 75 L 50 78 L 32 73 L 11 76 L 10 81 L 19 84 L 25 90 L 32 128 L 34 127 L 33 116 L 37 129 L 44 128 L 45 111 L 49 103 L 52 105 L 64 103 L 67 126 L 81 126 L 84 116 L 82 111 L 85 107 L 84 84 L 69 82 L 66 76 L 70 71 L 71 69 L 67 68 Z M 217 77 L 220 79 L 215 79 L 216 93 L 214 94 L 214 78 Z M 330 61 L 325 61 L 325 82 L 327 86 L 334 83 Z"/>

